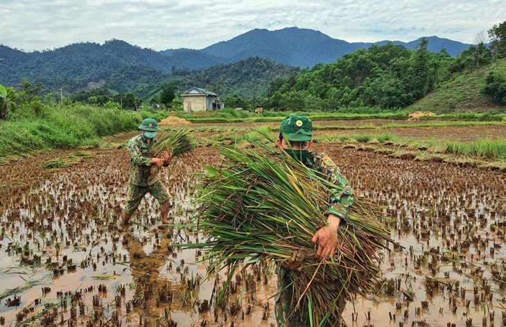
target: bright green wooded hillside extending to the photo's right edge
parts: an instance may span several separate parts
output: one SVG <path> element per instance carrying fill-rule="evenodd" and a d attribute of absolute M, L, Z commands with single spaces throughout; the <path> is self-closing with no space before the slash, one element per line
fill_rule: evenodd
<path fill-rule="evenodd" d="M 443 87 L 456 87 L 455 80 L 472 88 L 475 97 L 486 100 L 487 96 L 480 94 L 480 90 L 485 87 L 487 65 L 494 62 L 497 67 L 503 67 L 500 64 L 503 57 L 497 49 L 493 60 L 494 52 L 482 43 L 470 46 L 457 58 L 452 58 L 446 51 L 428 51 L 425 39 L 415 51 L 394 44 L 372 46 L 344 55 L 333 64 L 318 64 L 290 78 L 275 80 L 267 106 L 281 110 L 328 111 L 342 107 L 404 108 Z M 499 85 L 496 88 L 500 89 L 503 78 L 500 74 L 504 71 L 501 72 L 500 68 L 492 71 L 499 74 L 495 78 L 496 85 Z M 469 82 L 469 74 L 478 76 L 476 83 Z M 465 109 L 457 104 L 459 100 L 464 99 L 454 96 L 445 102 L 440 101 L 441 106 L 437 108 L 442 112 Z M 480 106 L 487 109 L 500 104 L 500 100 L 488 98 Z"/>

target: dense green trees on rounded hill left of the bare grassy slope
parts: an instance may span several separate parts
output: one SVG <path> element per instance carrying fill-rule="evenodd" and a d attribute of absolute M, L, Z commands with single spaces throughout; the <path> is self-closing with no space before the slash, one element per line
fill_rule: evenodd
<path fill-rule="evenodd" d="M 446 77 L 452 58 L 430 53 L 423 40 L 416 51 L 385 44 L 344 55 L 271 84 L 267 107 L 335 111 L 342 107 L 405 107 L 432 91 Z"/>

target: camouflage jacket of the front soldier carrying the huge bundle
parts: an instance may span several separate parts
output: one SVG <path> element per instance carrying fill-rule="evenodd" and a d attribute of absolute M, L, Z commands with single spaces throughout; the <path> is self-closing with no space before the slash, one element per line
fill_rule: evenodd
<path fill-rule="evenodd" d="M 329 208 L 326 214 L 332 213 L 337 215 L 342 220 L 346 220 L 347 209 L 355 201 L 353 197 L 353 190 L 348 182 L 348 179 L 341 174 L 338 166 L 335 166 L 330 157 L 320 152 L 309 152 L 309 157 L 305 165 L 308 168 L 316 170 L 326 176 L 326 180 L 339 186 L 331 190 L 329 195 Z"/>

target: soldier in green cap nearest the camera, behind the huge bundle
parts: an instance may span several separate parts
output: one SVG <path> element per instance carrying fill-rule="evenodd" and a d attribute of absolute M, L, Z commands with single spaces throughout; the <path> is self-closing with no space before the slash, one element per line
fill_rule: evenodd
<path fill-rule="evenodd" d="M 354 202 L 351 186 L 335 166 L 332 159 L 324 153 L 311 152 L 313 142 L 313 124 L 304 116 L 288 116 L 283 119 L 279 127 L 279 139 L 277 145 L 290 157 L 302 161 L 308 168 L 317 170 L 326 175 L 326 179 L 338 186 L 329 197 L 329 207 L 326 209 L 327 225 L 317 230 L 311 239 L 317 244 L 317 258 L 322 260 L 329 258 L 335 252 L 338 242 L 338 227 L 344 224 L 347 208 Z M 309 241 L 309 240 L 308 240 Z M 297 269 L 302 264 L 302 256 L 297 252 L 290 260 L 281 263 L 278 267 L 278 284 L 276 297 L 276 320 L 279 327 L 306 327 L 308 321 L 298 321 L 298 315 L 290 315 L 293 308 L 291 269 Z M 346 299 L 337 295 L 338 306 L 344 310 Z M 339 326 L 339 321 L 327 321 L 325 326 Z"/>

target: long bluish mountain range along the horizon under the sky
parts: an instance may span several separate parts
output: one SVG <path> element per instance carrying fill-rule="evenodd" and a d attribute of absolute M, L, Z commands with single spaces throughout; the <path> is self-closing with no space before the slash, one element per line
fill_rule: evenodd
<path fill-rule="evenodd" d="M 452 56 L 471 45 L 436 36 L 426 39 L 429 51 L 439 52 L 445 48 Z M 19 85 L 21 78 L 28 78 L 30 82 L 41 82 L 48 91 L 63 88 L 74 92 L 101 86 L 125 92 L 146 88 L 185 71 L 209 69 L 250 57 L 266 58 L 290 67 L 311 68 L 315 64 L 335 62 L 360 48 L 387 42 L 390 41 L 349 43 L 317 30 L 291 27 L 250 30 L 201 50 L 154 51 L 119 39 L 30 53 L 0 44 L 0 84 Z M 392 43 L 414 49 L 420 42 L 421 39 Z"/>

